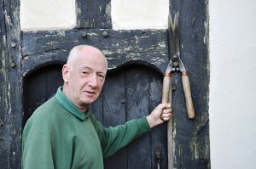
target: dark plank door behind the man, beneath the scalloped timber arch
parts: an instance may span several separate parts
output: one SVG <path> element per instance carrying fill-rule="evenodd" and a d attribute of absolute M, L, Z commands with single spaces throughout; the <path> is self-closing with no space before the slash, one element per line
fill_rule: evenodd
<path fill-rule="evenodd" d="M 160 103 L 162 76 L 145 65 L 126 65 L 108 71 L 102 94 L 92 109 L 104 126 L 113 127 L 139 118 Z M 32 112 L 52 97 L 63 83 L 61 65 L 48 65 L 24 79 L 24 124 Z M 156 168 L 155 147 L 162 149 L 162 168 L 166 168 L 166 125 L 155 127 L 143 137 L 108 157 L 106 169 Z"/>

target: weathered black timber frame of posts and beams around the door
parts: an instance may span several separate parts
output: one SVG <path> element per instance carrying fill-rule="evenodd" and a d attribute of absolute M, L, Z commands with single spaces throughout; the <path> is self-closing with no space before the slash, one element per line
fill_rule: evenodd
<path fill-rule="evenodd" d="M 82 8 L 85 3 L 88 8 Z M 179 13 L 181 57 L 189 70 L 196 112 L 195 120 L 190 121 L 186 116 L 181 78 L 175 74 L 172 79 L 173 168 L 210 168 L 207 3 L 207 0 L 170 1 L 171 14 Z M 109 70 L 127 64 L 147 65 L 159 73 L 166 69 L 167 31 L 113 31 L 110 13 L 106 13 L 109 4 L 109 0 L 96 3 L 78 0 L 80 12 L 77 26 L 72 30 L 21 32 L 19 1 L 1 0 L 0 164 L 3 168 L 20 168 L 24 78 L 45 65 L 65 63 L 68 50 L 74 45 L 86 43 L 101 48 L 107 55 Z M 102 8 L 102 13 L 96 8 Z"/>

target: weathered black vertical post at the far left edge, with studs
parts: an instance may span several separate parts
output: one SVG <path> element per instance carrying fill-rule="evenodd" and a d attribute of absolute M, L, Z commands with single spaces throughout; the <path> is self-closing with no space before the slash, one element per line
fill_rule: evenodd
<path fill-rule="evenodd" d="M 1 0 L 0 7 L 0 164 L 3 169 L 20 168 L 22 110 L 19 1 Z"/>

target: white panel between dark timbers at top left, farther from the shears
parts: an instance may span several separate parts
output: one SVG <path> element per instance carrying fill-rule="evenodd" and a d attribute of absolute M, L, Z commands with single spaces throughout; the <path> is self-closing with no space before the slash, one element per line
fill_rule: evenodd
<path fill-rule="evenodd" d="M 20 29 L 58 30 L 76 24 L 75 0 L 20 0 Z"/>

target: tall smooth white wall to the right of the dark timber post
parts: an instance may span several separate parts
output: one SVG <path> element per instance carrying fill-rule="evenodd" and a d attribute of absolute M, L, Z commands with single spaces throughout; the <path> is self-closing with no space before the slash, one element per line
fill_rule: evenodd
<path fill-rule="evenodd" d="M 210 0 L 213 169 L 256 168 L 256 1 Z"/>

